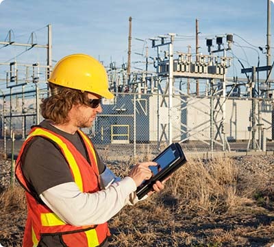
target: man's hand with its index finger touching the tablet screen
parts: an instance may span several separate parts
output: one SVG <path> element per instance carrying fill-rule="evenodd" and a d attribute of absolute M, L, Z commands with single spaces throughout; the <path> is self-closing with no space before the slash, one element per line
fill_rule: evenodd
<path fill-rule="evenodd" d="M 129 172 L 129 177 L 131 177 L 136 183 L 136 187 L 138 187 L 143 180 L 149 180 L 153 175 L 149 166 L 157 166 L 158 164 L 155 162 L 142 162 L 138 163 L 133 167 L 133 169 Z M 158 189 L 158 188 L 156 188 Z"/>

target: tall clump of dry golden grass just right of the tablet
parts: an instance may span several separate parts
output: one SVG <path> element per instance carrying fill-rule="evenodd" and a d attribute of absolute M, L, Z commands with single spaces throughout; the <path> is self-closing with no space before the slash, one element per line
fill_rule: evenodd
<path fill-rule="evenodd" d="M 177 198 L 179 210 L 187 213 L 224 212 L 240 203 L 237 179 L 238 169 L 229 158 L 190 160 L 171 178 L 165 193 Z"/>

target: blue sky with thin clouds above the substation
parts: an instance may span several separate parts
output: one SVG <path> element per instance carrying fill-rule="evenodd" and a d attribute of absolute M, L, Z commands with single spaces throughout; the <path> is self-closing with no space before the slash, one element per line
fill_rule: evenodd
<path fill-rule="evenodd" d="M 267 0 L 4 0 L 0 5 L 0 41 L 12 30 L 14 41 L 27 43 L 35 31 L 37 43 L 45 45 L 46 26 L 51 24 L 53 60 L 86 53 L 104 64 L 112 60 L 120 66 L 127 62 L 128 19 L 132 16 L 132 66 L 143 68 L 145 58 L 135 53 L 145 54 L 148 46 L 149 56 L 155 56 L 148 40 L 151 37 L 173 32 L 177 34 L 175 51 L 187 52 L 188 45 L 195 51 L 195 19 L 198 19 L 201 53 L 207 54 L 206 37 L 237 34 L 233 54 L 245 67 L 256 66 L 259 54 L 263 66 L 266 57 L 257 47 L 266 45 L 266 3 Z M 274 13 L 273 3 L 271 7 Z M 273 17 L 271 23 L 274 32 Z M 24 49 L 11 46 L 0 49 L 0 62 L 12 59 Z M 45 63 L 46 58 L 46 50 L 36 48 L 16 60 Z M 239 72 L 240 64 L 234 63 L 231 75 L 245 77 Z"/>

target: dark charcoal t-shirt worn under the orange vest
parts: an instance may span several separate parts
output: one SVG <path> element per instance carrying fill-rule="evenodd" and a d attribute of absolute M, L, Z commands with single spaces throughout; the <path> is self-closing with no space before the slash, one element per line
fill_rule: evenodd
<path fill-rule="evenodd" d="M 75 148 L 86 158 L 88 161 L 88 154 L 84 146 L 82 137 L 77 132 L 75 134 L 69 134 L 58 128 L 55 128 L 49 121 L 44 120 L 40 126 L 60 134 L 62 137 L 68 139 L 75 145 Z M 99 174 L 101 174 L 105 165 L 101 162 L 99 155 L 97 154 L 97 163 Z M 34 137 L 25 148 L 25 152 L 22 156 L 22 169 L 23 174 L 30 186 L 36 191 L 37 196 L 43 191 L 60 185 L 62 183 L 74 182 L 73 175 L 69 169 L 69 164 L 66 162 L 62 152 L 58 146 L 45 139 L 44 137 Z M 90 161 L 88 161 L 90 163 Z"/>

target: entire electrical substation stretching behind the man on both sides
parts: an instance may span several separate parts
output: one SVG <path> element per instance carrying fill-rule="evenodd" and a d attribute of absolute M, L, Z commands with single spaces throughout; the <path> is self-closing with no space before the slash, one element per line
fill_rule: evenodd
<path fill-rule="evenodd" d="M 229 78 L 227 71 L 235 59 L 227 56 L 233 49 L 233 34 L 207 38 L 208 54 L 191 54 L 175 51 L 176 34 L 170 33 L 150 39 L 156 55 L 149 57 L 147 47 L 145 70 L 133 71 L 131 22 L 129 18 L 127 63 L 105 66 L 115 97 L 103 99 L 103 113 L 92 128 L 84 130 L 96 145 L 122 149 L 129 145 L 134 156 L 138 144 L 160 148 L 174 141 L 188 152 L 273 152 L 270 61 L 264 67 L 242 67 L 242 78 Z M 47 64 L 0 62 L 5 67 L 0 95 L 5 153 L 7 142 L 25 139 L 31 126 L 42 120 L 39 105 L 49 96 L 47 78 L 53 69 L 51 32 L 48 25 L 47 45 L 33 38 L 26 44 L 16 43 L 10 32 L 0 42 L 3 47 L 26 47 L 26 51 L 47 50 Z M 213 50 L 215 39 L 217 49 Z M 266 80 L 259 80 L 260 73 L 266 73 Z"/>

